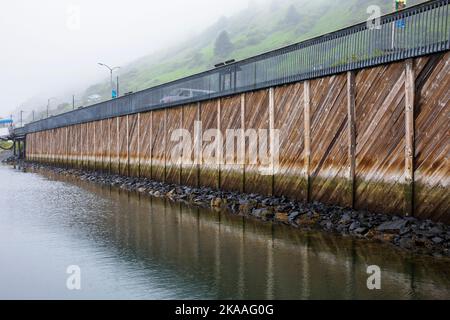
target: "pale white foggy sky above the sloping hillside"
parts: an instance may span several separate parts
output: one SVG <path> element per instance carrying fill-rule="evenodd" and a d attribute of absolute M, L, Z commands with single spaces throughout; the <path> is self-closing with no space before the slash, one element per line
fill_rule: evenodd
<path fill-rule="evenodd" d="M 0 117 L 33 96 L 82 90 L 106 78 L 97 62 L 125 65 L 183 42 L 247 5 L 247 0 L 4 1 Z"/>

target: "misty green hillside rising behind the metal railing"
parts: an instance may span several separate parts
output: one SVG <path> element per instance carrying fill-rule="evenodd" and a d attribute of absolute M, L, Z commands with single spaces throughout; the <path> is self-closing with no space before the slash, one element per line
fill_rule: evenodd
<path fill-rule="evenodd" d="M 424 1 L 410 0 L 408 6 L 420 2 Z M 379 5 L 383 13 L 392 11 L 392 0 L 272 0 L 266 4 L 250 4 L 234 16 L 222 17 L 200 35 L 176 47 L 123 67 L 120 91 L 135 92 L 211 69 L 217 62 L 240 60 L 365 21 L 367 7 L 374 4 Z M 231 46 L 226 47 L 226 54 L 218 56 L 215 44 L 224 31 Z M 89 87 L 82 103 L 87 105 L 87 97 L 93 94 L 109 99 L 109 82 Z"/>

